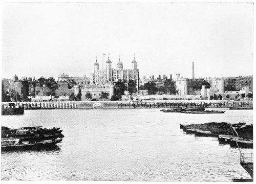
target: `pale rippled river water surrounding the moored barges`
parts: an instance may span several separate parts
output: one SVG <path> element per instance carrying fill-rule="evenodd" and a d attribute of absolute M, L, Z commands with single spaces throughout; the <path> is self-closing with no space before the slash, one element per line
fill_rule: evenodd
<path fill-rule="evenodd" d="M 2 126 L 60 127 L 55 149 L 2 152 L 2 180 L 232 181 L 250 178 L 239 150 L 215 137 L 185 134 L 179 124 L 245 122 L 252 110 L 224 114 L 160 109 L 25 110 Z M 252 153 L 252 149 L 241 149 Z"/>

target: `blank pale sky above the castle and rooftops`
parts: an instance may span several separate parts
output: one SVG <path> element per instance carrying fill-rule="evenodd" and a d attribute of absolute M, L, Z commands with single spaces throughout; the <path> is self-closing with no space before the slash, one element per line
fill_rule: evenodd
<path fill-rule="evenodd" d="M 90 76 L 96 56 L 140 76 L 252 75 L 251 3 L 4 3 L 2 78 Z"/>

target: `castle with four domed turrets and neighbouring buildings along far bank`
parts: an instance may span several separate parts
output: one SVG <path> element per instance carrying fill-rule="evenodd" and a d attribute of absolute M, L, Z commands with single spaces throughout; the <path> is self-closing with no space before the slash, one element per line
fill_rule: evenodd
<path fill-rule="evenodd" d="M 134 82 L 134 90 L 139 91 L 143 88 L 146 83 L 154 82 L 156 87 L 161 91 L 160 94 L 172 95 L 173 87 L 175 87 L 176 95 L 204 95 L 202 92 L 202 84 L 209 84 L 210 90 L 208 94 L 226 93 L 226 87 L 232 86 L 237 90 L 246 89 L 249 92 L 252 92 L 253 88 L 253 77 L 227 77 L 227 78 L 199 78 L 195 79 L 194 74 L 194 63 L 192 68 L 192 78 L 183 78 L 180 74 L 176 75 L 175 81 L 172 78 L 172 75 L 169 75 L 169 78 L 163 75 L 159 75 L 155 78 L 152 77 L 146 78 L 145 76 L 139 76 L 139 70 L 137 68 L 137 61 L 135 57 L 132 60 L 132 68 L 125 69 L 123 68 L 123 63 L 120 60 L 117 61 L 116 67 L 112 65 L 110 57 L 105 61 L 105 68 L 99 68 L 99 63 L 94 63 L 94 71 L 90 74 L 90 77 L 70 77 L 68 74 L 58 75 L 57 81 L 54 80 L 36 80 L 31 77 L 18 79 L 15 75 L 12 80 L 3 80 L 2 89 L 5 93 L 18 93 L 20 95 L 26 96 L 48 96 L 54 91 L 55 96 L 70 96 L 72 93 L 76 95 L 81 94 L 82 101 L 89 100 L 99 100 L 102 93 L 108 93 L 109 99 L 115 93 L 115 86 L 117 82 L 122 82 L 126 87 L 128 86 L 129 81 Z M 53 77 L 52 77 L 53 79 Z M 90 93 L 92 98 L 88 98 L 86 94 Z"/>

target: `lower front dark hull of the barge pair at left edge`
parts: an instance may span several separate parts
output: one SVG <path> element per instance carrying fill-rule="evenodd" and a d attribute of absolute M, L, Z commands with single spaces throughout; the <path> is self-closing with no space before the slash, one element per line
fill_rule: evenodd
<path fill-rule="evenodd" d="M 62 141 L 62 139 L 58 139 L 58 140 L 51 141 L 51 142 L 46 142 L 46 143 L 23 144 L 23 145 L 14 145 L 14 146 L 1 146 L 1 151 L 49 148 L 49 147 L 55 146 L 57 143 L 59 143 L 61 141 Z"/>

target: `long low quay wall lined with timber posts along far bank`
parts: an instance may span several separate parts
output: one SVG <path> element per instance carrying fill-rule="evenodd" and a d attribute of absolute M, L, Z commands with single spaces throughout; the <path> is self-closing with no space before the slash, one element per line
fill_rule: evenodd
<path fill-rule="evenodd" d="M 8 104 L 8 103 L 2 103 Z M 253 101 L 223 101 L 223 100 L 175 100 L 175 101 L 116 101 L 116 102 L 17 102 L 24 107 L 56 107 L 57 109 L 118 109 L 118 108 L 174 108 L 180 106 L 228 108 L 228 107 L 252 107 Z"/>

